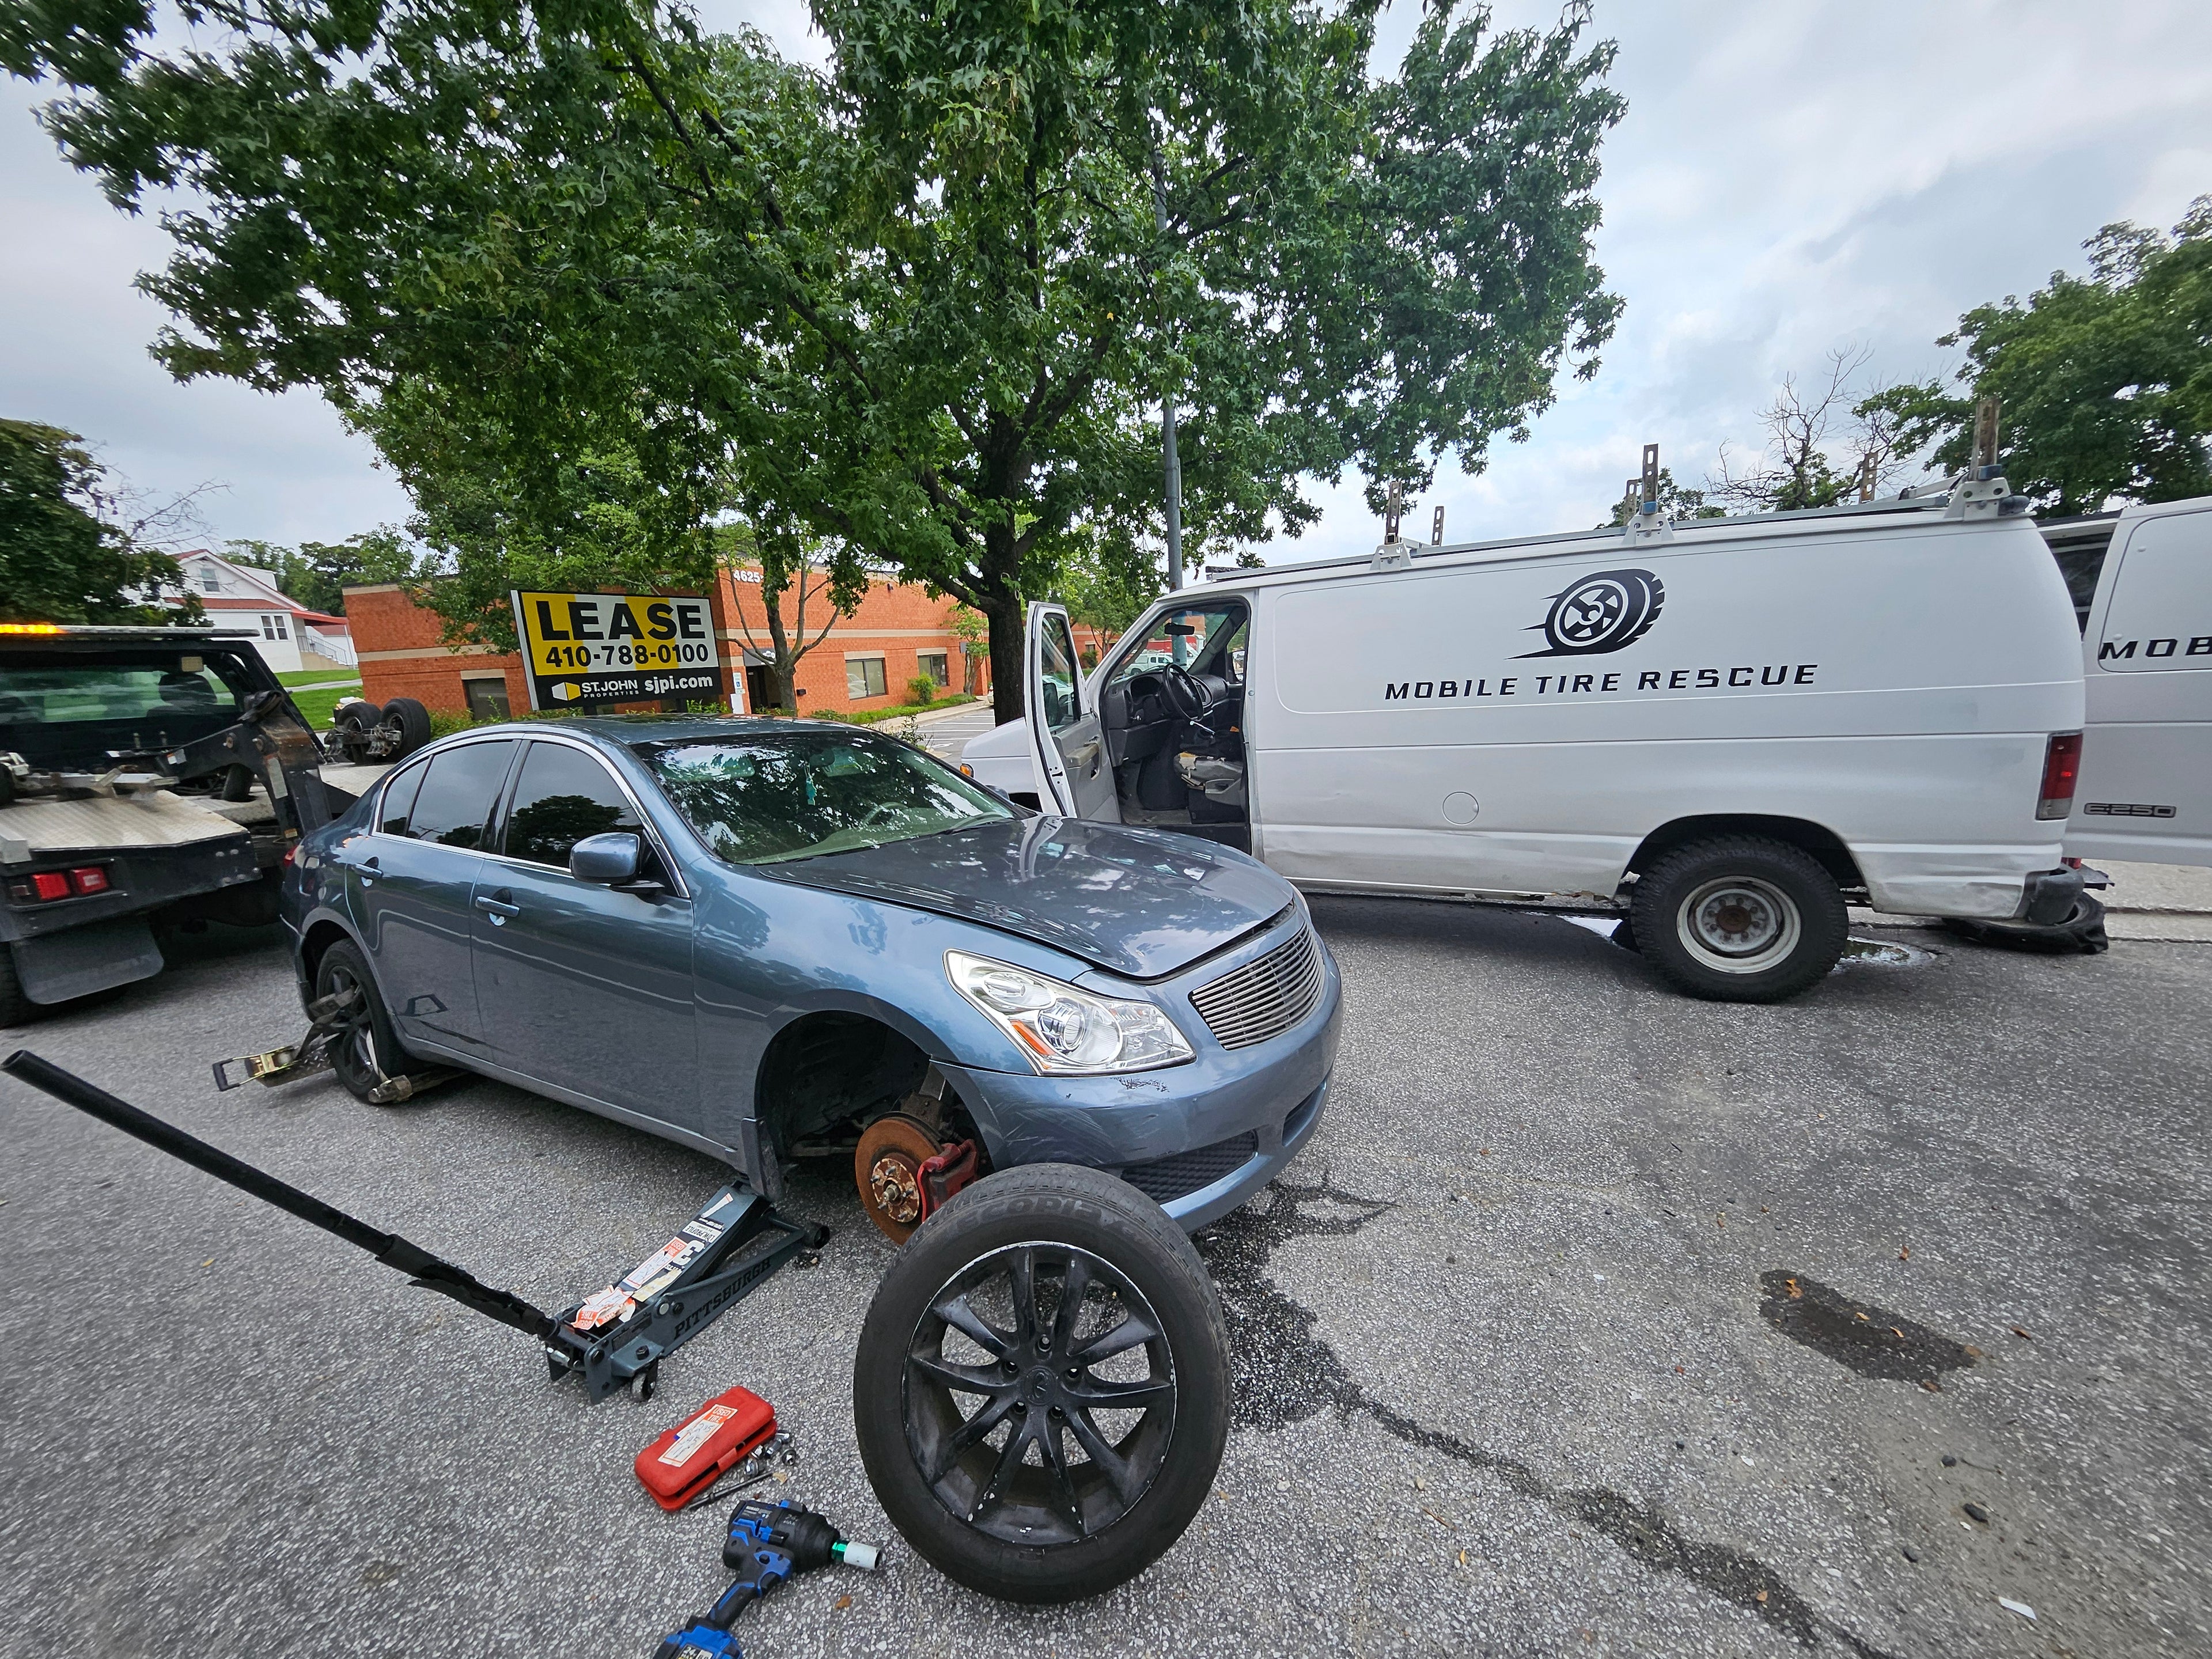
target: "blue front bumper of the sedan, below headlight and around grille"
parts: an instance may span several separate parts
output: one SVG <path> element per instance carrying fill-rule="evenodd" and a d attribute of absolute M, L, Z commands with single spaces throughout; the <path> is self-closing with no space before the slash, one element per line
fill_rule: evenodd
<path fill-rule="evenodd" d="M 1301 916 L 1303 922 L 1303 916 Z M 1252 947 L 1272 949 L 1281 936 Z M 1221 1048 L 1197 1020 L 1181 1022 L 1197 1057 L 1113 1077 L 1037 1077 L 940 1062 L 982 1130 L 991 1164 L 1084 1164 L 1119 1175 L 1186 1232 L 1250 1203 L 1321 1124 L 1343 989 L 1321 949 L 1323 989 L 1290 1031 Z M 1210 980 L 1214 962 L 1197 975 Z M 1181 980 L 1157 993 L 1181 1000 Z M 1179 1013 L 1188 1011 L 1188 1004 Z"/>

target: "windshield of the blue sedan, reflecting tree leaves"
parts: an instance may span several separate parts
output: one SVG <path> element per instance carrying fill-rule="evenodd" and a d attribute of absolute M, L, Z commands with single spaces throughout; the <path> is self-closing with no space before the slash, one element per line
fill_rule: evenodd
<path fill-rule="evenodd" d="M 661 790 L 717 856 L 774 865 L 1013 818 L 907 743 L 814 730 L 670 739 L 639 748 Z"/>

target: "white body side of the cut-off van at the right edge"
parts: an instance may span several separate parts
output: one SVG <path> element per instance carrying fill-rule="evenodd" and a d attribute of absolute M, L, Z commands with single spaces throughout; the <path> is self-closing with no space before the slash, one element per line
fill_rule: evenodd
<path fill-rule="evenodd" d="M 2212 498 L 2121 520 L 2081 677 L 2088 721 L 2066 852 L 2212 865 Z"/>

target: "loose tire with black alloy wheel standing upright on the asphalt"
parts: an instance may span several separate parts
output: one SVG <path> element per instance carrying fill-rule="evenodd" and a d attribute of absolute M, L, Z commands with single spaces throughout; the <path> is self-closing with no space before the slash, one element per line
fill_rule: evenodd
<path fill-rule="evenodd" d="M 1221 1469 L 1221 1301 L 1126 1181 L 1000 1170 L 891 1261 L 852 1416 L 885 1515 L 949 1579 L 1002 1601 L 1099 1595 L 1183 1535 Z"/>

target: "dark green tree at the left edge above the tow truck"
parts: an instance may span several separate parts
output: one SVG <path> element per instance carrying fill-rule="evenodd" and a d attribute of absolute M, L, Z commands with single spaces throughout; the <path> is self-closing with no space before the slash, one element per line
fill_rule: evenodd
<path fill-rule="evenodd" d="M 0 420 L 0 622 L 199 622 L 177 562 L 117 524 L 84 438 Z"/>

